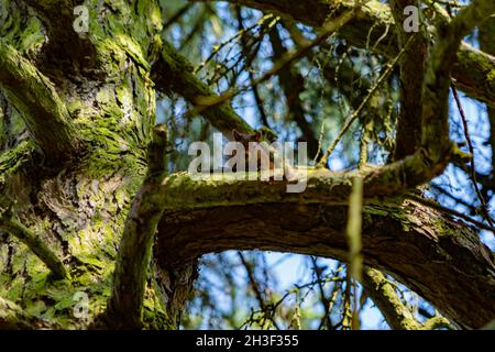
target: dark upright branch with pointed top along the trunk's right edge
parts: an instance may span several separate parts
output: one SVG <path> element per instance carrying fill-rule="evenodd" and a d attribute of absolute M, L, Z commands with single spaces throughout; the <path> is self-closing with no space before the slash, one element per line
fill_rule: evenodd
<path fill-rule="evenodd" d="M 165 173 L 165 125 L 161 124 L 154 131 L 148 152 L 148 172 L 125 220 L 113 274 L 112 295 L 106 312 L 107 324 L 118 329 L 142 327 L 146 274 L 153 240 L 164 209 L 163 195 L 155 190 L 161 187 Z"/>

